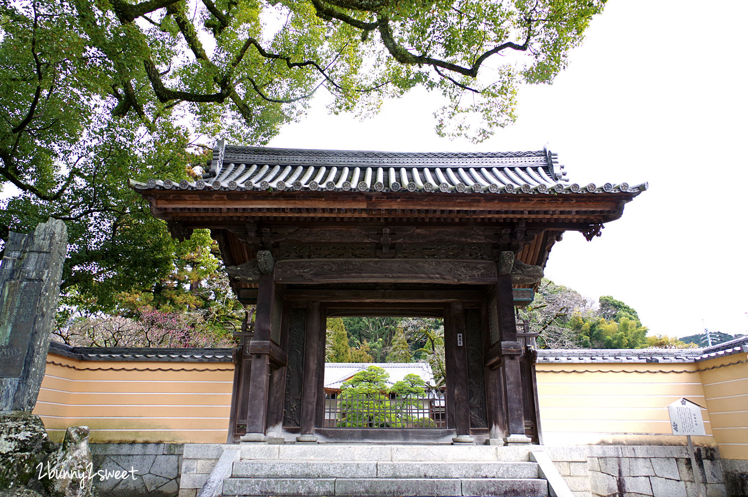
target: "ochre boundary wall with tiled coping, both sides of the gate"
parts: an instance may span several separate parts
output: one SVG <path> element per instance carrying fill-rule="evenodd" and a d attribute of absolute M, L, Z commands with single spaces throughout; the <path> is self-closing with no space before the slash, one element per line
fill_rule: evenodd
<path fill-rule="evenodd" d="M 99 349 L 53 343 L 37 407 L 50 437 L 87 425 L 91 442 L 223 443 L 229 349 Z M 724 459 L 748 460 L 748 337 L 707 349 L 539 351 L 545 443 L 684 445 L 666 405 L 705 406 Z M 682 439 L 681 439 L 682 438 Z"/>

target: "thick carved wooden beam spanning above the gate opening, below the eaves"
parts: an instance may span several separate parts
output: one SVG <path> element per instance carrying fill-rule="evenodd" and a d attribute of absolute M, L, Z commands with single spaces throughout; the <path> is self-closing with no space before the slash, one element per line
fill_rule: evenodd
<path fill-rule="evenodd" d="M 286 259 L 275 265 L 277 283 L 496 283 L 492 261 L 456 259 Z"/>

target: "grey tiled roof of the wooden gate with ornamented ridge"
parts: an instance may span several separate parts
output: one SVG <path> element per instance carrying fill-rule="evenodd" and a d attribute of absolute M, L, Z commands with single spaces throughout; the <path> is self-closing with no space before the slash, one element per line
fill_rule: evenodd
<path fill-rule="evenodd" d="M 590 183 L 565 178 L 557 154 L 526 152 L 376 152 L 227 145 L 213 150 L 209 172 L 195 182 L 130 182 L 138 190 L 368 191 L 493 194 L 639 193 L 646 183 Z"/>

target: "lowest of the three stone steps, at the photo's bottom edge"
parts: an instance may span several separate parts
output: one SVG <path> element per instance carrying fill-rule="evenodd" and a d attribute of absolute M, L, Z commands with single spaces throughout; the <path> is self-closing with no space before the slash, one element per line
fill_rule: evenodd
<path fill-rule="evenodd" d="M 536 478 L 227 478 L 222 496 L 548 496 Z"/>

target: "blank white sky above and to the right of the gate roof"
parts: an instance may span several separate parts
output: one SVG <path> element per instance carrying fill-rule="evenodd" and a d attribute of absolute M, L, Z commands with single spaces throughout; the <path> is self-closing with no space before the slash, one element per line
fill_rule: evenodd
<path fill-rule="evenodd" d="M 315 102 L 269 146 L 559 152 L 580 184 L 648 181 L 591 242 L 567 232 L 551 280 L 637 309 L 650 333 L 748 330 L 745 244 L 748 2 L 613 0 L 553 86 L 525 87 L 518 123 L 479 146 L 433 132 L 432 96 L 363 123 Z"/>

